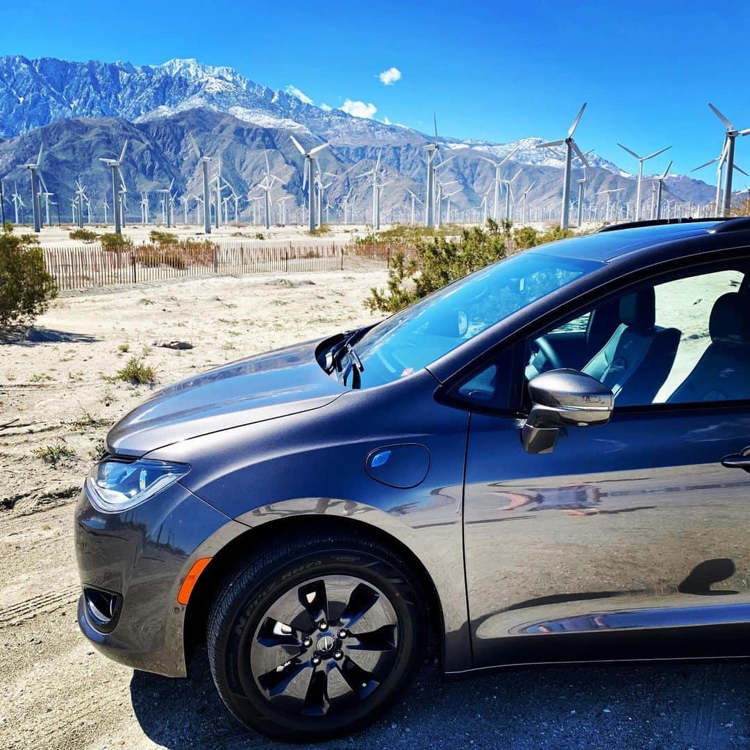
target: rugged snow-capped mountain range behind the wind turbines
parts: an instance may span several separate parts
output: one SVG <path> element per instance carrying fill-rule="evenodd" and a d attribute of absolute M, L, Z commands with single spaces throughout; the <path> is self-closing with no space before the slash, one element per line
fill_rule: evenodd
<path fill-rule="evenodd" d="M 98 157 L 117 154 L 125 138 L 130 146 L 124 172 L 132 193 L 163 189 L 172 178 L 179 194 L 196 190 L 190 134 L 204 153 L 220 157 L 223 177 L 242 196 L 263 178 L 268 154 L 282 179 L 274 197 L 292 195 L 297 205 L 303 201 L 302 160 L 290 135 L 306 145 L 327 141 L 331 148 L 320 153 L 320 163 L 338 175 L 328 199 L 335 204 L 351 188 L 350 205 L 359 205 L 363 212 L 371 200 L 371 187 L 368 181 L 354 178 L 371 169 L 379 154 L 384 177 L 391 183 L 383 193 L 384 210 L 406 206 L 407 188 L 424 193 L 423 146 L 434 138 L 409 127 L 316 107 L 296 95 L 254 83 L 233 68 L 194 59 L 135 66 L 0 57 L 0 138 L 5 138 L 0 140 L 0 178 L 28 192 L 23 164 L 35 158 L 43 143 L 43 175 L 65 215 L 70 214 L 76 178 L 83 179 L 89 193 L 104 196 L 108 173 Z M 541 138 L 524 138 L 501 144 L 441 135 L 443 154 L 450 150 L 456 157 L 443 172 L 460 184 L 452 205 L 480 205 L 494 175 L 486 159 L 501 160 L 511 151 L 502 177 L 512 177 L 523 166 L 513 183 L 514 193 L 534 181 L 529 206 L 559 205 L 562 153 L 536 148 L 540 142 Z M 587 159 L 589 199 L 596 201 L 593 196 L 598 191 L 614 187 L 624 188 L 619 193 L 622 202 L 634 198 L 632 175 L 596 154 Z M 580 178 L 580 163 L 573 166 L 574 178 Z M 678 175 L 667 178 L 665 193 L 665 199 L 706 203 L 713 189 Z"/>

